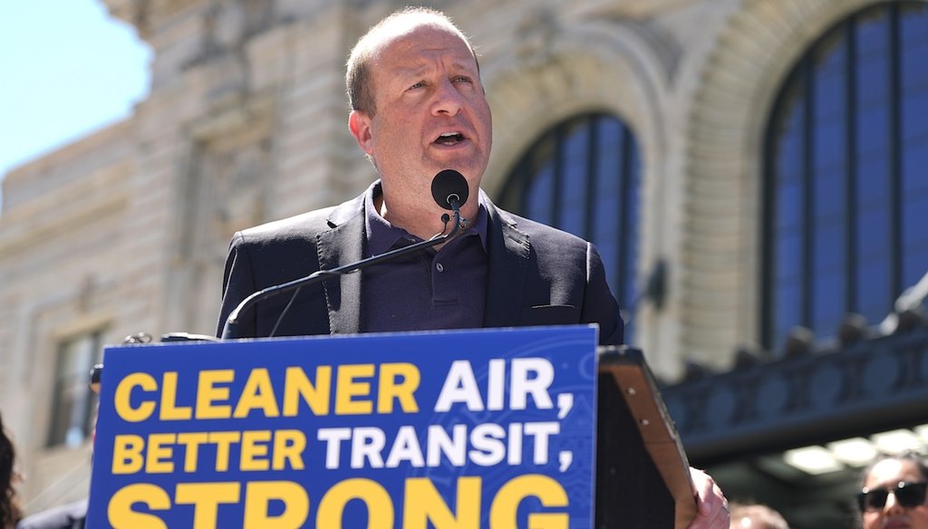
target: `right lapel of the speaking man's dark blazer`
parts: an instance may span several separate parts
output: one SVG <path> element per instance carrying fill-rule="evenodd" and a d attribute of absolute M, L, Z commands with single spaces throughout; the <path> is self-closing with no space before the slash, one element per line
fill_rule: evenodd
<path fill-rule="evenodd" d="M 512 327 L 519 323 L 531 245 L 528 235 L 516 229 L 492 202 L 487 200 L 486 206 L 489 271 L 483 327 Z"/>

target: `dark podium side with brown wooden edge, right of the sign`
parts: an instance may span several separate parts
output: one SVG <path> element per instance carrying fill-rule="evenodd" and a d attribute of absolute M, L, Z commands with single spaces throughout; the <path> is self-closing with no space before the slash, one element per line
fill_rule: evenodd
<path fill-rule="evenodd" d="M 684 529 L 690 463 L 638 349 L 599 348 L 596 527 Z"/>

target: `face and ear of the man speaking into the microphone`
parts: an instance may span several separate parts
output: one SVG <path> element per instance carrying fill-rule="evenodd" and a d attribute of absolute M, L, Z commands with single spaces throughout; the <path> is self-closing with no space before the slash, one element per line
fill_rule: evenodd
<path fill-rule="evenodd" d="M 349 126 L 385 186 L 431 197 L 432 177 L 444 169 L 480 185 L 493 140 L 490 107 L 457 34 L 419 26 L 393 38 L 372 58 L 370 80 L 377 110 L 353 112 Z"/>

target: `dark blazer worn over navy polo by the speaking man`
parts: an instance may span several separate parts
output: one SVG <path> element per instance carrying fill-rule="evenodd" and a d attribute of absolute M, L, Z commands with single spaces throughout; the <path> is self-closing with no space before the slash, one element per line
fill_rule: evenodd
<path fill-rule="evenodd" d="M 240 231 L 226 258 L 217 336 L 252 292 L 362 259 L 365 195 L 339 206 Z M 596 247 L 561 230 L 500 210 L 485 200 L 489 267 L 483 327 L 599 324 L 599 342 L 623 342 L 624 324 Z M 356 333 L 361 273 L 303 289 L 276 336 Z M 238 318 L 239 337 L 270 334 L 290 292 Z"/>

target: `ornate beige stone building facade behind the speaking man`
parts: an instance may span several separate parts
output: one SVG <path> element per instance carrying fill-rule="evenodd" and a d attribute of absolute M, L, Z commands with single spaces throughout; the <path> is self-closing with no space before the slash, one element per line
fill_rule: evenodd
<path fill-rule="evenodd" d="M 6 175 L 0 410 L 29 510 L 86 494 L 89 442 L 49 424 L 100 344 L 212 334 L 235 230 L 353 197 L 375 177 L 347 131 L 344 60 L 405 5 L 373 0 L 105 0 L 153 48 L 132 117 Z M 664 380 L 760 345 L 763 152 L 797 58 L 875 0 L 439 0 L 478 47 L 496 198 L 535 138 L 619 117 L 641 160 L 637 267 L 669 264 L 635 307 Z M 75 348 L 91 353 L 74 354 Z M 83 356 L 82 356 L 83 355 Z M 79 366 L 68 371 L 63 363 Z M 77 375 L 74 375 L 77 376 Z M 83 382 L 83 381 L 82 381 Z M 54 430 L 54 428 L 52 428 Z M 59 428 L 60 430 L 60 428 Z"/>

